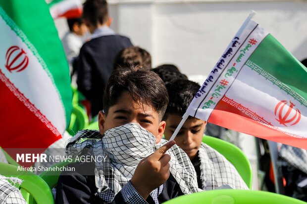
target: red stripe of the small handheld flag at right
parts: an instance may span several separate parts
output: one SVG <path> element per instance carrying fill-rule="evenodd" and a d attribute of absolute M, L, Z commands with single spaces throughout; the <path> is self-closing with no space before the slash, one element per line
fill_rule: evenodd
<path fill-rule="evenodd" d="M 255 115 L 253 115 L 254 118 L 258 117 L 257 119 L 259 121 L 267 124 L 257 122 L 252 118 L 253 116 L 246 114 L 244 107 L 241 107 L 241 110 L 239 110 L 238 106 L 233 106 L 234 103 L 229 103 L 227 100 L 230 99 L 223 97 L 223 99 L 220 100 L 212 111 L 208 122 L 266 140 L 280 142 L 307 150 L 307 138 L 277 130 L 276 127 L 274 129 L 269 122 L 266 122 L 261 117 L 255 117 Z"/>

